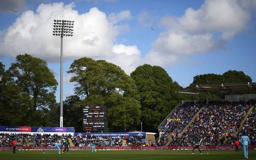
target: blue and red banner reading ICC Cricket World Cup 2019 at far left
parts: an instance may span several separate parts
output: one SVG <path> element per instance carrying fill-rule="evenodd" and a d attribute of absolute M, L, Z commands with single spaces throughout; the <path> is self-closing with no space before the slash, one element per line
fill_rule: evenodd
<path fill-rule="evenodd" d="M 74 127 L 0 126 L 0 132 L 74 132 Z"/>

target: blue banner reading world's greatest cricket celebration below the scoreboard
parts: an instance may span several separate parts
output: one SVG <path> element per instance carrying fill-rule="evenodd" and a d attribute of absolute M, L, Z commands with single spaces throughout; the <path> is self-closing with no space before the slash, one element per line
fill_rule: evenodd
<path fill-rule="evenodd" d="M 83 135 L 85 136 L 86 134 L 91 134 L 94 136 L 110 136 L 110 137 L 117 137 L 117 136 L 146 136 L 146 132 L 106 132 L 106 133 L 78 133 L 76 132 L 74 134 L 74 136 L 78 136 L 78 135 Z"/>

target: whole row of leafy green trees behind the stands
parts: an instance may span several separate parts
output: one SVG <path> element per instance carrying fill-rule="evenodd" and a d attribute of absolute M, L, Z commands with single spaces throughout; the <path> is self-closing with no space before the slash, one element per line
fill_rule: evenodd
<path fill-rule="evenodd" d="M 107 130 L 122 132 L 140 128 L 156 132 L 158 125 L 181 100 L 205 98 L 206 94 L 186 95 L 160 66 L 138 66 L 130 76 L 105 60 L 74 60 L 68 73 L 74 75 L 74 95 L 63 104 L 64 126 L 82 132 L 84 105 L 107 106 Z M 197 75 L 196 84 L 252 82 L 244 72 Z M 57 81 L 45 60 L 29 54 L 18 55 L 5 70 L 0 62 L 0 125 L 58 126 L 60 105 L 56 103 Z M 216 95 L 210 95 L 218 98 Z"/>

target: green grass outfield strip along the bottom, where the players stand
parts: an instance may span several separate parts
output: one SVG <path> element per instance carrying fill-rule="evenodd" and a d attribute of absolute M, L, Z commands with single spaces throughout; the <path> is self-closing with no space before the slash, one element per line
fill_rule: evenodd
<path fill-rule="evenodd" d="M 0 160 L 242 160 L 243 151 L 210 150 L 195 154 L 188 150 L 100 150 L 92 153 L 89 150 L 70 151 L 69 154 L 58 154 L 58 151 L 0 151 Z M 256 150 L 249 151 L 249 159 L 256 160 Z"/>

